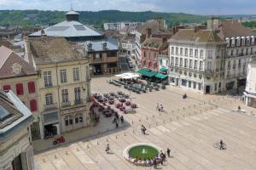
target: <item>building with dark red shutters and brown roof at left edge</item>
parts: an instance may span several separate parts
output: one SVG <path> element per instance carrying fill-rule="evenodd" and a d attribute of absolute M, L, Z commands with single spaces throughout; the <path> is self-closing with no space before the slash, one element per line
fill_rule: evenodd
<path fill-rule="evenodd" d="M 32 65 L 11 49 L 0 47 L 0 88 L 12 90 L 32 112 L 32 140 L 41 139 L 43 133 L 38 112 L 37 81 L 38 73 Z"/>

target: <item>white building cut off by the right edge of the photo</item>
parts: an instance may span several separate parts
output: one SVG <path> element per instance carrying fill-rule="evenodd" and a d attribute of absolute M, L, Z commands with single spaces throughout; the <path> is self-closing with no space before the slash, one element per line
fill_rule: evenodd
<path fill-rule="evenodd" d="M 244 92 L 245 103 L 256 108 L 256 59 L 249 62 L 247 69 L 247 86 Z"/>

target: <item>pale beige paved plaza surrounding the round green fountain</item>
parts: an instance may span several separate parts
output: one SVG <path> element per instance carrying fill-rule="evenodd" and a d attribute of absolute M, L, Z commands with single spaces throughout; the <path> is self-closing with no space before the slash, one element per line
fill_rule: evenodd
<path fill-rule="evenodd" d="M 92 93 L 123 91 L 108 84 L 106 77 L 92 79 Z M 183 99 L 183 94 L 188 99 Z M 256 169 L 256 110 L 226 95 L 202 95 L 181 88 L 134 94 L 136 114 L 123 114 L 125 124 L 115 128 L 113 118 L 101 116 L 96 127 L 65 133 L 65 144 L 53 147 L 52 139 L 34 141 L 38 168 L 51 169 L 152 169 L 137 167 L 126 161 L 123 150 L 130 144 L 151 143 L 163 150 L 171 149 L 161 169 L 217 170 Z M 164 112 L 156 111 L 156 105 Z M 238 113 L 237 106 L 247 111 Z M 140 131 L 147 127 L 148 135 Z M 220 139 L 227 150 L 213 147 Z M 110 145 L 111 154 L 105 152 Z"/>

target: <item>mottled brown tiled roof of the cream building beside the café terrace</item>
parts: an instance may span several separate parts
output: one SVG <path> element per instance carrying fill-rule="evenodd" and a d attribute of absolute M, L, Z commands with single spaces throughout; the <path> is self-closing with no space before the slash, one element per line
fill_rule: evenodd
<path fill-rule="evenodd" d="M 30 48 L 36 64 L 50 64 L 82 60 L 84 56 L 73 48 L 64 37 L 29 38 Z"/>

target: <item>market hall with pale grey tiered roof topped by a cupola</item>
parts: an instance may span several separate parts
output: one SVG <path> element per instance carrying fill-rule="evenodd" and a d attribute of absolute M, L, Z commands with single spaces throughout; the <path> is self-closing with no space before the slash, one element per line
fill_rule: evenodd
<path fill-rule="evenodd" d="M 66 20 L 32 33 L 29 37 L 65 37 L 81 54 L 90 56 L 90 75 L 119 71 L 119 42 L 79 22 L 79 13 L 69 11 Z"/>

